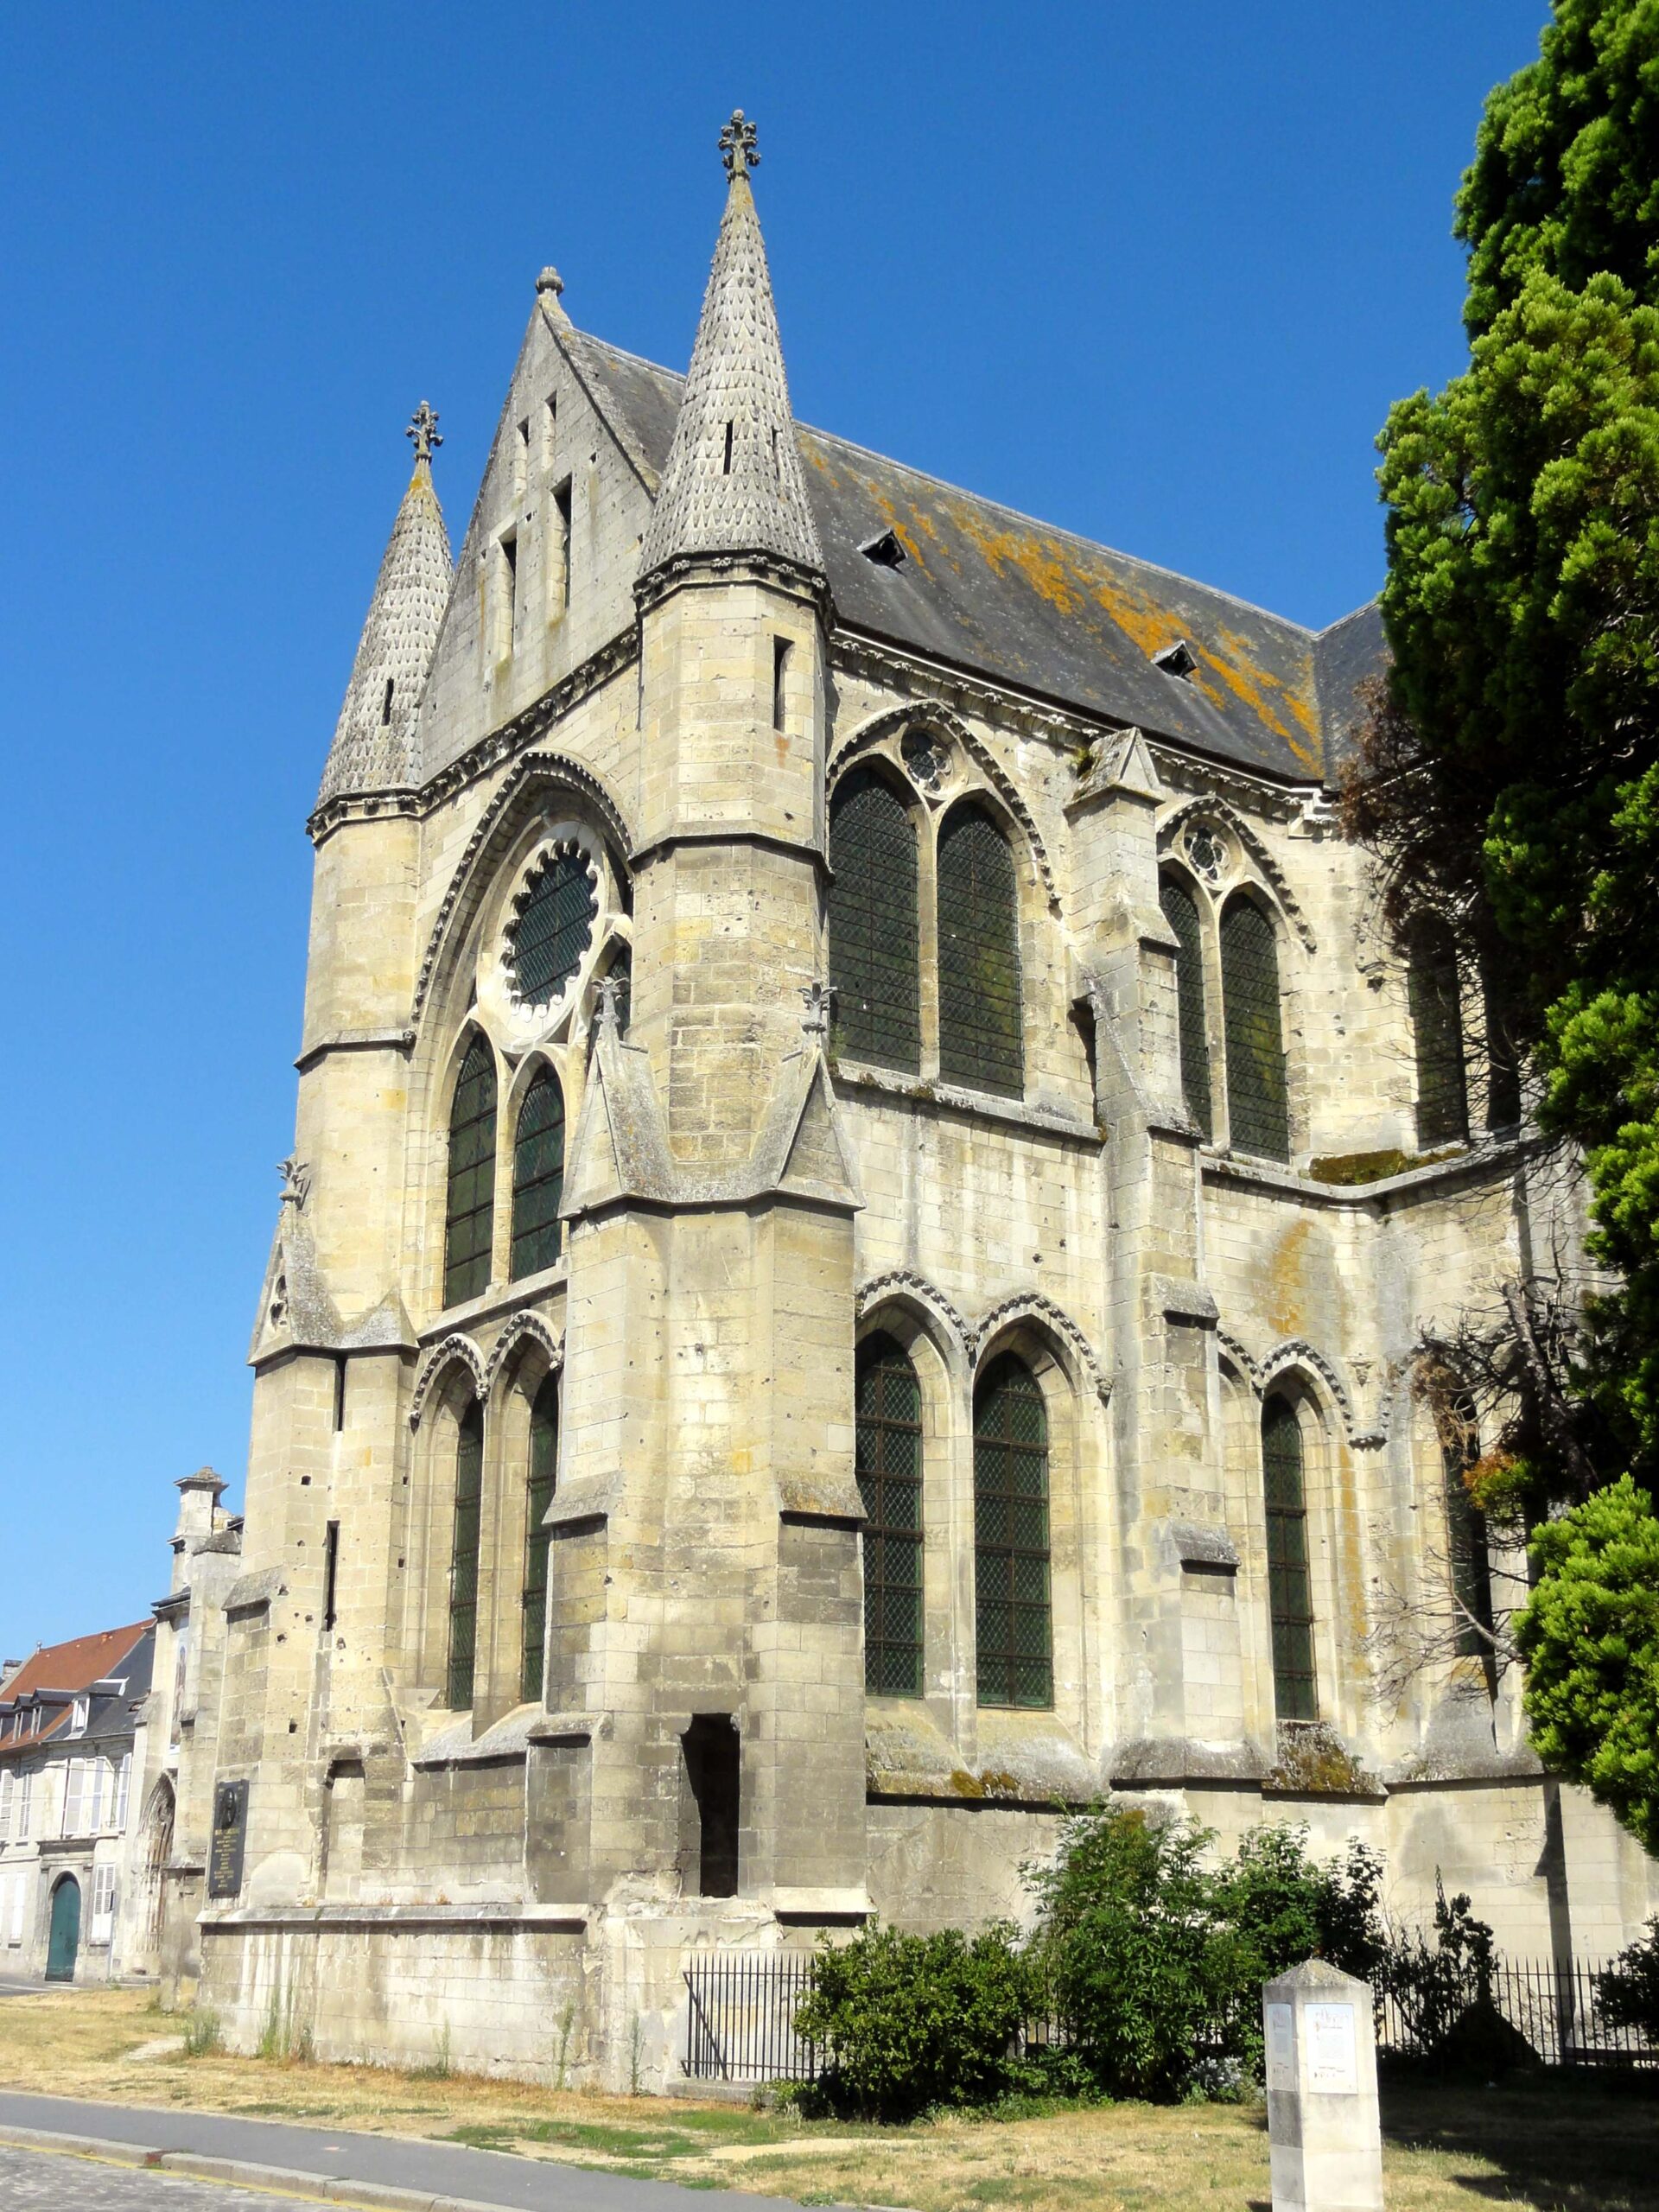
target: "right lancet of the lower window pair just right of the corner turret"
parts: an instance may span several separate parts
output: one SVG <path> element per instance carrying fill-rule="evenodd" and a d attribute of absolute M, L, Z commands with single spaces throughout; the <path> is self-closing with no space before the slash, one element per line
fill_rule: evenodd
<path fill-rule="evenodd" d="M 973 1621 L 982 1705 L 1053 1705 L 1048 1407 L 1013 1352 L 973 1394 Z"/>

